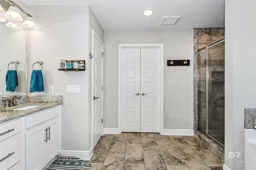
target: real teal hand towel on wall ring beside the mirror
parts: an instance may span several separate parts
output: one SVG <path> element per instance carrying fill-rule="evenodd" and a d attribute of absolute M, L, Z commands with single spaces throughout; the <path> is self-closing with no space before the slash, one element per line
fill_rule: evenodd
<path fill-rule="evenodd" d="M 32 71 L 29 91 L 44 92 L 44 79 L 41 70 Z"/>

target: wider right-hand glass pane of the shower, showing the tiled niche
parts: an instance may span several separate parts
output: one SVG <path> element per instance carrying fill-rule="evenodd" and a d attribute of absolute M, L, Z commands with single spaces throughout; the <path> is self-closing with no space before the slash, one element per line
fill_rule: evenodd
<path fill-rule="evenodd" d="M 206 89 L 208 136 L 224 146 L 225 42 L 206 47 L 208 81 Z"/>

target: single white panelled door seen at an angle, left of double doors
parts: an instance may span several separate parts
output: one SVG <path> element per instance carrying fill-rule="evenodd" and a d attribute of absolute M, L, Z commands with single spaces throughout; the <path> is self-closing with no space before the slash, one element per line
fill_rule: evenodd
<path fill-rule="evenodd" d="M 93 148 L 102 136 L 102 50 L 103 43 L 93 38 Z"/>

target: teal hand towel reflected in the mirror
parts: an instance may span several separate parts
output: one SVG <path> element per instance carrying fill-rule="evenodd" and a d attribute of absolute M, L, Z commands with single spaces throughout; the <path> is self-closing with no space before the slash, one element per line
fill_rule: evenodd
<path fill-rule="evenodd" d="M 18 75 L 16 70 L 8 70 L 6 77 L 6 91 L 14 92 L 16 86 L 18 86 Z"/>

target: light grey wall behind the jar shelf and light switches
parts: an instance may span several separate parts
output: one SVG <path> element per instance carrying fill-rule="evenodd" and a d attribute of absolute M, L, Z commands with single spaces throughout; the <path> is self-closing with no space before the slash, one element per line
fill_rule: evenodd
<path fill-rule="evenodd" d="M 90 94 L 90 59 L 92 29 L 104 41 L 104 31 L 88 5 L 80 6 L 30 6 L 37 19 L 38 29 L 30 31 L 29 65 L 44 61 L 42 70 L 44 92 L 28 95 L 62 95 L 62 149 L 89 150 L 92 146 L 92 120 Z M 89 23 L 90 20 L 90 23 Z M 85 60 L 86 71 L 58 71 L 61 59 Z M 28 71 L 30 81 L 31 68 Z M 66 93 L 67 85 L 80 85 L 80 93 Z"/>

